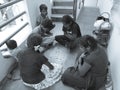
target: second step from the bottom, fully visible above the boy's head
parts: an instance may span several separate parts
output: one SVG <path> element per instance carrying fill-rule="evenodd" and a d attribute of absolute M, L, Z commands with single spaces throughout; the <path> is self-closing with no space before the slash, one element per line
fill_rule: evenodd
<path fill-rule="evenodd" d="M 54 6 L 52 7 L 52 13 L 53 14 L 72 14 L 73 13 L 73 7 L 67 6 Z"/>

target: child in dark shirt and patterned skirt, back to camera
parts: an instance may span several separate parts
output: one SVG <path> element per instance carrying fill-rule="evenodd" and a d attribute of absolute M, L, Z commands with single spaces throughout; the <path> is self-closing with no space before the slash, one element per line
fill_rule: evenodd
<path fill-rule="evenodd" d="M 36 90 L 52 86 L 61 79 L 62 73 L 61 65 L 50 63 L 47 57 L 34 50 L 41 42 L 40 34 L 30 34 L 27 47 L 17 55 L 23 84 Z"/>

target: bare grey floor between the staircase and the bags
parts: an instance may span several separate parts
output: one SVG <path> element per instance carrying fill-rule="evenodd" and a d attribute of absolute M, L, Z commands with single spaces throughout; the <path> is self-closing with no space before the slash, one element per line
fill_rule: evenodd
<path fill-rule="evenodd" d="M 80 26 L 82 35 L 93 35 L 92 31 L 95 29 L 93 27 L 94 22 L 99 16 L 99 9 L 94 7 L 83 7 L 79 17 L 77 19 L 77 23 Z"/>

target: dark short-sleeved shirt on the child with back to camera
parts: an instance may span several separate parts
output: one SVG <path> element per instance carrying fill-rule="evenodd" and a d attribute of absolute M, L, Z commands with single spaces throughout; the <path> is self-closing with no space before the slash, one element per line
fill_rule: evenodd
<path fill-rule="evenodd" d="M 42 65 L 48 62 L 45 56 L 27 48 L 20 51 L 17 58 L 20 65 L 20 74 L 24 82 L 36 84 L 45 78 L 40 70 Z"/>

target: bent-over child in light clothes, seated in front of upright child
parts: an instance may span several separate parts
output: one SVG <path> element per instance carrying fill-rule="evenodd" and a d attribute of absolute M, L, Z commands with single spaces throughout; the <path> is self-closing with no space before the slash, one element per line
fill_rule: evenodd
<path fill-rule="evenodd" d="M 55 24 L 53 24 L 52 20 L 46 19 L 38 27 L 36 27 L 33 30 L 33 33 L 38 33 L 42 37 L 40 52 L 44 52 L 52 45 L 52 43 L 54 41 L 54 37 L 50 31 L 54 27 L 55 27 Z"/>

